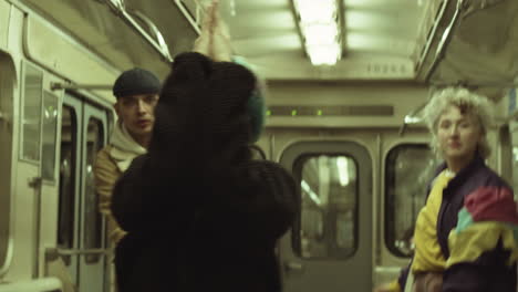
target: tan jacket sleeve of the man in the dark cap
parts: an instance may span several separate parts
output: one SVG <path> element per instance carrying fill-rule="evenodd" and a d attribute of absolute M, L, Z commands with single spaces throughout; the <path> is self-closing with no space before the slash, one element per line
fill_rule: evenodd
<path fill-rule="evenodd" d="M 110 209 L 112 191 L 115 186 L 115 181 L 121 176 L 121 171 L 116 164 L 110 158 L 110 146 L 104 147 L 99 152 L 95 159 L 95 189 L 99 196 L 100 212 L 107 221 L 108 237 L 112 243 L 117 243 L 126 234 L 126 231 L 121 229 L 112 215 L 112 210 Z"/>

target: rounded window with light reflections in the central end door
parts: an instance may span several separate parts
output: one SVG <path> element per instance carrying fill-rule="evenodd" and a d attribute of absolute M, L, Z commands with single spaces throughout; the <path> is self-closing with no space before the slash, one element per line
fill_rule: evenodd
<path fill-rule="evenodd" d="M 346 155 L 310 155 L 296 161 L 302 206 L 292 246 L 304 259 L 346 259 L 356 250 L 358 167 Z"/>

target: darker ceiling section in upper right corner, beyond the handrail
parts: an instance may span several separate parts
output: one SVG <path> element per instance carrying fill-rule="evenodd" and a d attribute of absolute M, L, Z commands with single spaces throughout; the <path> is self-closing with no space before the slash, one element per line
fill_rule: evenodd
<path fill-rule="evenodd" d="M 501 88 L 514 87 L 518 74 L 518 1 L 449 1 L 447 9 L 449 18 L 442 23 L 435 50 L 417 72 L 417 80 L 437 85 L 460 83 L 500 98 Z"/>

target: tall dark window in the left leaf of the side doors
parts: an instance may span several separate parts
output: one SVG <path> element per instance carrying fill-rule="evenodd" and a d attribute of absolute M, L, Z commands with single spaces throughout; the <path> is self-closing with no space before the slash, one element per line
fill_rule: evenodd
<path fill-rule="evenodd" d="M 72 249 L 75 221 L 75 166 L 77 115 L 63 105 L 61 118 L 60 201 L 58 213 L 58 246 Z M 70 257 L 63 258 L 70 264 Z"/>

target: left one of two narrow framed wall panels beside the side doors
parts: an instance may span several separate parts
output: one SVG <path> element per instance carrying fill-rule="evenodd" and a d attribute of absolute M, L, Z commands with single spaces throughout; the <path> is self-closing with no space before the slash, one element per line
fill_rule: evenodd
<path fill-rule="evenodd" d="M 41 101 L 43 73 L 25 64 L 22 115 L 22 158 L 40 160 Z"/>

